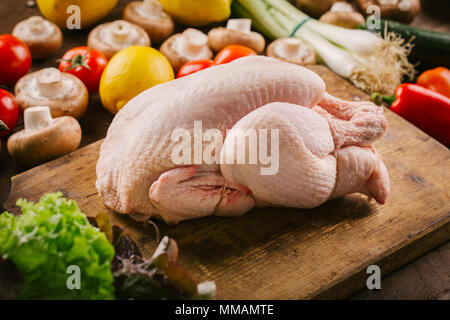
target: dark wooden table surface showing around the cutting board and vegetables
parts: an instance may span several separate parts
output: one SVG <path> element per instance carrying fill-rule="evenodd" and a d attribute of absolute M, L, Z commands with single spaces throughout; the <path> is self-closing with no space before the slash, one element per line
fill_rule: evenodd
<path fill-rule="evenodd" d="M 108 20 L 120 17 L 124 5 L 129 2 L 120 0 Z M 450 2 L 446 0 L 424 1 L 424 10 L 413 25 L 434 30 L 450 32 Z M 38 9 L 27 0 L 2 0 L 0 3 L 0 34 L 10 33 L 14 25 L 31 15 L 39 14 Z M 64 44 L 60 52 L 45 61 L 34 62 L 32 71 L 43 67 L 56 66 L 55 60 L 67 49 L 85 45 L 89 30 L 64 32 Z M 12 88 L 10 88 L 12 89 Z M 81 120 L 83 128 L 82 146 L 95 142 L 106 135 L 106 130 L 113 118 L 101 106 L 98 96 L 91 97 L 89 111 Z M 23 128 L 19 124 L 17 130 Z M 23 171 L 7 154 L 6 139 L 2 139 L 0 150 L 0 204 L 10 191 L 10 179 Z M 377 292 L 364 290 L 352 299 L 450 299 L 450 243 L 433 250 L 427 255 L 413 261 L 396 272 L 386 275 L 382 289 Z"/>

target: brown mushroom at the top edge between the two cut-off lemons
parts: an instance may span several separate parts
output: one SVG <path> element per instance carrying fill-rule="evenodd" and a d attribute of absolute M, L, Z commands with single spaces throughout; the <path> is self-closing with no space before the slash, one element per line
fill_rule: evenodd
<path fill-rule="evenodd" d="M 130 2 L 123 12 L 123 19 L 147 31 L 153 43 L 161 43 L 173 34 L 172 18 L 163 11 L 157 0 Z"/>

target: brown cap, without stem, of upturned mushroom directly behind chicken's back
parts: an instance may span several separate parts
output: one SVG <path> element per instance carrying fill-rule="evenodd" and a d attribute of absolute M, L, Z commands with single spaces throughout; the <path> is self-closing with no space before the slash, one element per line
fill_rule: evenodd
<path fill-rule="evenodd" d="M 266 47 L 264 37 L 258 32 L 250 31 L 249 33 L 245 33 L 224 27 L 211 29 L 208 33 L 208 42 L 216 52 L 232 44 L 249 47 L 257 53 L 263 52 Z"/>

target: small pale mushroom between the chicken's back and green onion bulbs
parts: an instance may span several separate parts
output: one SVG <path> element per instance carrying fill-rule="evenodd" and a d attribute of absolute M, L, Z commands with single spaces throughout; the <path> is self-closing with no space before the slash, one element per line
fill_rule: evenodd
<path fill-rule="evenodd" d="M 316 53 L 306 43 L 296 38 L 275 40 L 267 47 L 267 56 L 298 65 L 316 64 Z"/>

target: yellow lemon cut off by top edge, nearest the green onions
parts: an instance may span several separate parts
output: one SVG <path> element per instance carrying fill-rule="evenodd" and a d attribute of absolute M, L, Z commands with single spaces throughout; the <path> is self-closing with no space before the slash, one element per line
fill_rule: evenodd
<path fill-rule="evenodd" d="M 187 26 L 201 27 L 228 19 L 232 0 L 159 0 L 164 11 Z"/>

